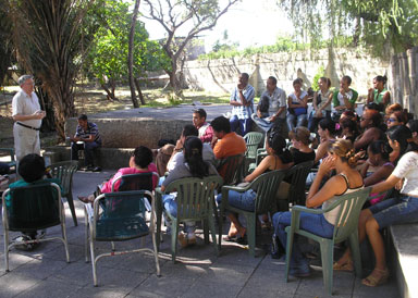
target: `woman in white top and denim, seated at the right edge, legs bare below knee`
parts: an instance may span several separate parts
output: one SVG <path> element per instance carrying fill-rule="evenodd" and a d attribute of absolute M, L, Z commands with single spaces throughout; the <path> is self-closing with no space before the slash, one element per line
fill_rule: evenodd
<path fill-rule="evenodd" d="M 392 128 L 391 128 L 392 129 Z M 403 139 L 410 139 L 410 131 L 401 125 L 395 129 L 403 131 Z M 389 145 L 394 149 L 401 146 L 397 140 L 389 137 Z M 366 286 L 384 284 L 389 277 L 384 243 L 380 231 L 393 224 L 414 223 L 418 221 L 418 145 L 409 142 L 406 153 L 402 156 L 392 174 L 379 184 L 373 185 L 372 193 L 382 193 L 395 187 L 404 179 L 402 197 L 388 199 L 365 209 L 360 213 L 358 223 L 358 238 L 362 241 L 366 235 L 371 244 L 376 257 L 374 270 L 361 283 Z M 334 264 L 334 270 L 353 270 L 349 250 Z"/>

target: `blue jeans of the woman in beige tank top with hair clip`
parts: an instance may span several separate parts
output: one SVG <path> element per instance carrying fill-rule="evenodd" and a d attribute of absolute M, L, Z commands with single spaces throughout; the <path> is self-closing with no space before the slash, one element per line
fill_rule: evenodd
<path fill-rule="evenodd" d="M 274 233 L 279 237 L 283 248 L 286 249 L 287 234 L 284 231 L 291 225 L 292 212 L 276 212 L 273 215 Z M 334 226 L 327 222 L 322 214 L 300 213 L 300 228 L 310 232 L 315 235 L 331 238 L 334 232 Z M 308 259 L 302 253 L 300 247 L 296 239 L 293 243 L 291 268 L 298 268 L 302 264 L 308 263 Z"/>

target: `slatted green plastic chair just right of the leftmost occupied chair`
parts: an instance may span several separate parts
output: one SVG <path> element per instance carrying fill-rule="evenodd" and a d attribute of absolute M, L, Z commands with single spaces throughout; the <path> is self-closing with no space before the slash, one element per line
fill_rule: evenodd
<path fill-rule="evenodd" d="M 57 162 L 49 166 L 51 176 L 60 181 L 61 196 L 66 198 L 75 226 L 78 224 L 73 200 L 73 175 L 77 171 L 77 166 L 78 161 L 76 160 Z"/>

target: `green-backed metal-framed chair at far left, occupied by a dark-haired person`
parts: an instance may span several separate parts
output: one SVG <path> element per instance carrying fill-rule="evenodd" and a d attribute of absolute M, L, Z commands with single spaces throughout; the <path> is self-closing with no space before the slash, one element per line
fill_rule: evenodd
<path fill-rule="evenodd" d="M 9 202 L 5 198 L 10 196 Z M 65 211 L 60 187 L 54 183 L 8 188 L 2 196 L 5 272 L 9 272 L 9 251 L 16 245 L 37 244 L 59 239 L 64 244 L 66 262 L 70 263 L 65 229 Z M 9 206 L 8 206 L 9 204 Z M 9 243 L 9 231 L 35 232 L 61 225 L 62 237 L 46 237 Z"/>

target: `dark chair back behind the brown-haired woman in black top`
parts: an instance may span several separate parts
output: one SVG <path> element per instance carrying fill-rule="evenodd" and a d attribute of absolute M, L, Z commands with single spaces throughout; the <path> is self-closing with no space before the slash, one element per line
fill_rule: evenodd
<path fill-rule="evenodd" d="M 306 178 L 312 165 L 314 161 L 306 161 L 292 166 L 287 171 L 285 179 L 291 184 L 288 200 L 293 204 L 305 204 Z"/>

